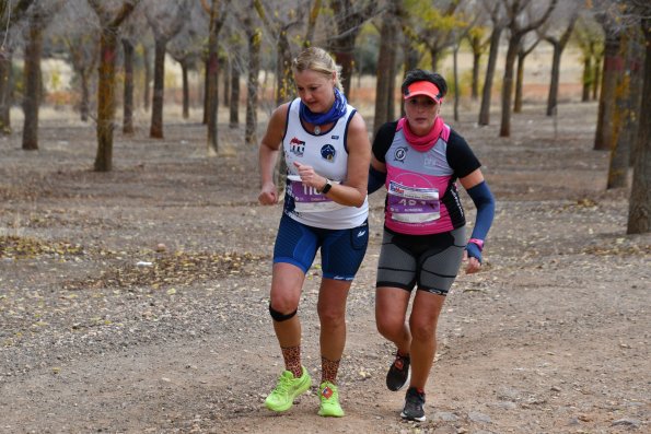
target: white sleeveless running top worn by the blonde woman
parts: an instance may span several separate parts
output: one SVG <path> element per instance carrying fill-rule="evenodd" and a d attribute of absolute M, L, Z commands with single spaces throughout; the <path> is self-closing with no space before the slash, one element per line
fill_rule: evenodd
<path fill-rule="evenodd" d="M 305 187 L 293 164 L 311 165 L 314 172 L 334 183 L 345 183 L 348 173 L 348 124 L 356 109 L 347 105 L 346 114 L 329 130 L 316 136 L 301 124 L 300 102 L 297 98 L 290 103 L 282 138 L 288 167 L 284 212 L 299 223 L 314 227 L 346 230 L 360 226 L 369 216 L 368 197 L 359 208 L 338 204 L 313 188 Z"/>

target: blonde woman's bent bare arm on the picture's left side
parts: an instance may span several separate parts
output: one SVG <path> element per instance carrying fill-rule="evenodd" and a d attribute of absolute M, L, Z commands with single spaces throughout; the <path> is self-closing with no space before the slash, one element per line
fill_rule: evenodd
<path fill-rule="evenodd" d="M 274 168 L 280 152 L 284 121 L 289 104 L 283 104 L 271 114 L 267 131 L 260 141 L 258 161 L 260 166 L 260 193 L 258 200 L 261 204 L 275 204 L 278 202 L 278 188 L 274 183 Z"/>

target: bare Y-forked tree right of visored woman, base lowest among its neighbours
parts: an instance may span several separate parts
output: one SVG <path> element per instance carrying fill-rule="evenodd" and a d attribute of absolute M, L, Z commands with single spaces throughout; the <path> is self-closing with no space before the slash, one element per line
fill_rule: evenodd
<path fill-rule="evenodd" d="M 509 45 L 502 80 L 502 122 L 500 137 L 511 136 L 511 98 L 513 97 L 513 66 L 518 57 L 518 49 L 522 38 L 531 31 L 538 28 L 551 14 L 558 0 L 549 0 L 547 7 L 537 19 L 523 20 L 523 13 L 532 8 L 531 0 L 503 0 L 509 17 Z"/>

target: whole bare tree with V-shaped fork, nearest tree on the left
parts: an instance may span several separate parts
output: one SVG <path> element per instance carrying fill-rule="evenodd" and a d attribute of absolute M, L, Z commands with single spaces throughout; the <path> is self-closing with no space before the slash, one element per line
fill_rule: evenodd
<path fill-rule="evenodd" d="M 118 31 L 140 0 L 89 0 L 102 26 L 100 48 L 100 82 L 97 85 L 97 154 L 95 171 L 109 172 L 113 166 L 113 129 L 115 118 L 115 68 Z"/>

